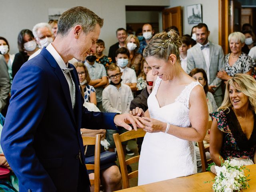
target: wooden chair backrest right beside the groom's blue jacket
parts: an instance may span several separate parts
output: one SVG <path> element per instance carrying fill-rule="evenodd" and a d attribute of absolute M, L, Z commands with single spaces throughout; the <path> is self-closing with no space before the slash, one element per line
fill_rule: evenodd
<path fill-rule="evenodd" d="M 90 179 L 91 185 L 94 184 L 94 192 L 100 191 L 100 134 L 97 134 L 96 137 L 82 137 L 83 144 L 86 145 L 95 145 L 94 152 L 94 164 L 86 164 L 88 170 L 94 170 L 94 180 Z"/>

